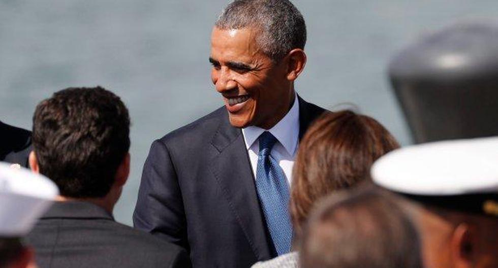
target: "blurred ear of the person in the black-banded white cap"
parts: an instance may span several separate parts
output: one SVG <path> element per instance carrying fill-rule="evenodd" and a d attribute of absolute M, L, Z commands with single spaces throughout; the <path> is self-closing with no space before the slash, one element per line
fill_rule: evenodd
<path fill-rule="evenodd" d="M 476 255 L 476 235 L 466 223 L 460 223 L 453 231 L 450 241 L 453 267 L 472 267 Z"/>

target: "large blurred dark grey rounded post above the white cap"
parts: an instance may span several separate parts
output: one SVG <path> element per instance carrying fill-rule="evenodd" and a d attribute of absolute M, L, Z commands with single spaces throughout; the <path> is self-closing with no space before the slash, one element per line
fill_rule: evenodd
<path fill-rule="evenodd" d="M 416 143 L 498 135 L 498 23 L 460 22 L 413 42 L 389 64 Z M 448 116 L 451 115 L 451 116 Z"/>

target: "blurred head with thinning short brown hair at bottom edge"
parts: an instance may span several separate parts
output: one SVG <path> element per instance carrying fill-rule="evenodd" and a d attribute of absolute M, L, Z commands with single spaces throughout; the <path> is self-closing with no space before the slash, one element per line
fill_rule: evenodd
<path fill-rule="evenodd" d="M 378 189 L 341 192 L 310 216 L 303 268 L 422 267 L 415 227 L 395 197 Z"/>

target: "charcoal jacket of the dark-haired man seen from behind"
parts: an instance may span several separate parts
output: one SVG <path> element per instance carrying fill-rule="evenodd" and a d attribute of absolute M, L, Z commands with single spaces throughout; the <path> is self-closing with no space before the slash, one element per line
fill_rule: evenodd
<path fill-rule="evenodd" d="M 27 242 L 40 268 L 191 266 L 180 247 L 117 223 L 86 202 L 56 202 Z"/>

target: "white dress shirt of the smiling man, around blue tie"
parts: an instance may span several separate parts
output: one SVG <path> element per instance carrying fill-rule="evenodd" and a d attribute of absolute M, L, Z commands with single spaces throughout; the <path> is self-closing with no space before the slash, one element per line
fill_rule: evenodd
<path fill-rule="evenodd" d="M 284 171 L 287 182 L 291 185 L 292 167 L 294 166 L 299 143 L 299 102 L 297 101 L 297 94 L 294 96 L 294 104 L 291 110 L 272 128 L 268 130 L 257 126 L 242 128 L 245 148 L 251 160 L 254 178 L 256 178 L 258 166 L 259 136 L 264 131 L 270 131 L 278 140 L 271 149 L 270 155 L 278 162 L 278 165 Z"/>

